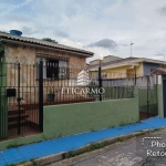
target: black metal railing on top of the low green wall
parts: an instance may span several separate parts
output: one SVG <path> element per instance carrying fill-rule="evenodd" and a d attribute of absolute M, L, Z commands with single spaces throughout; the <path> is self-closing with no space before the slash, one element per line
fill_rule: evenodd
<path fill-rule="evenodd" d="M 43 66 L 43 71 L 44 105 L 118 100 L 134 95 L 134 85 L 114 85 L 115 80 L 100 75 L 102 71 L 96 75 L 86 69 L 55 64 Z"/>

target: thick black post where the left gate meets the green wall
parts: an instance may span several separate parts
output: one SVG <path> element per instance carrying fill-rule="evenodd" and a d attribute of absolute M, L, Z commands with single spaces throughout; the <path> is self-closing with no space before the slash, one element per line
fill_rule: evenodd
<path fill-rule="evenodd" d="M 40 131 L 43 132 L 43 61 L 39 64 L 39 125 Z"/>

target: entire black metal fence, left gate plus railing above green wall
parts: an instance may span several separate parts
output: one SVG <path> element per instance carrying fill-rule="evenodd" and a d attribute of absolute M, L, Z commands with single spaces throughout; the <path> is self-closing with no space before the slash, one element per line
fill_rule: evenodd
<path fill-rule="evenodd" d="M 107 74 L 66 61 L 0 62 L 0 138 L 42 132 L 44 105 L 134 97 L 136 75 Z"/>

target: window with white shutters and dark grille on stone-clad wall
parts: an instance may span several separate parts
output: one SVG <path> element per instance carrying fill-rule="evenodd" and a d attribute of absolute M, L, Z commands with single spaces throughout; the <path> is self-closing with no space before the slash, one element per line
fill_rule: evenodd
<path fill-rule="evenodd" d="M 68 79 L 66 60 L 37 58 L 37 64 L 39 64 L 40 59 L 43 60 L 43 79 Z M 39 79 L 39 65 L 37 65 L 35 75 Z"/>

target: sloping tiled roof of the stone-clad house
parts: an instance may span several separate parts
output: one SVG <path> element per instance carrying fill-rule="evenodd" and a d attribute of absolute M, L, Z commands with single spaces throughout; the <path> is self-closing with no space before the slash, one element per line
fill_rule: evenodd
<path fill-rule="evenodd" d="M 18 41 L 18 42 L 21 42 L 22 44 L 23 43 L 30 43 L 30 44 L 34 44 L 34 46 L 35 45 L 43 45 L 43 46 L 48 46 L 48 48 L 82 53 L 86 56 L 93 56 L 93 52 L 85 51 L 85 50 L 82 50 L 82 49 L 76 49 L 76 48 L 72 48 L 72 46 L 62 45 L 62 44 L 59 44 L 59 43 L 48 42 L 48 41 L 43 41 L 43 40 L 40 40 L 40 39 L 19 37 L 19 35 L 13 35 L 13 34 L 10 34 L 10 33 L 0 32 L 0 41 L 8 42 L 7 40 Z"/>

